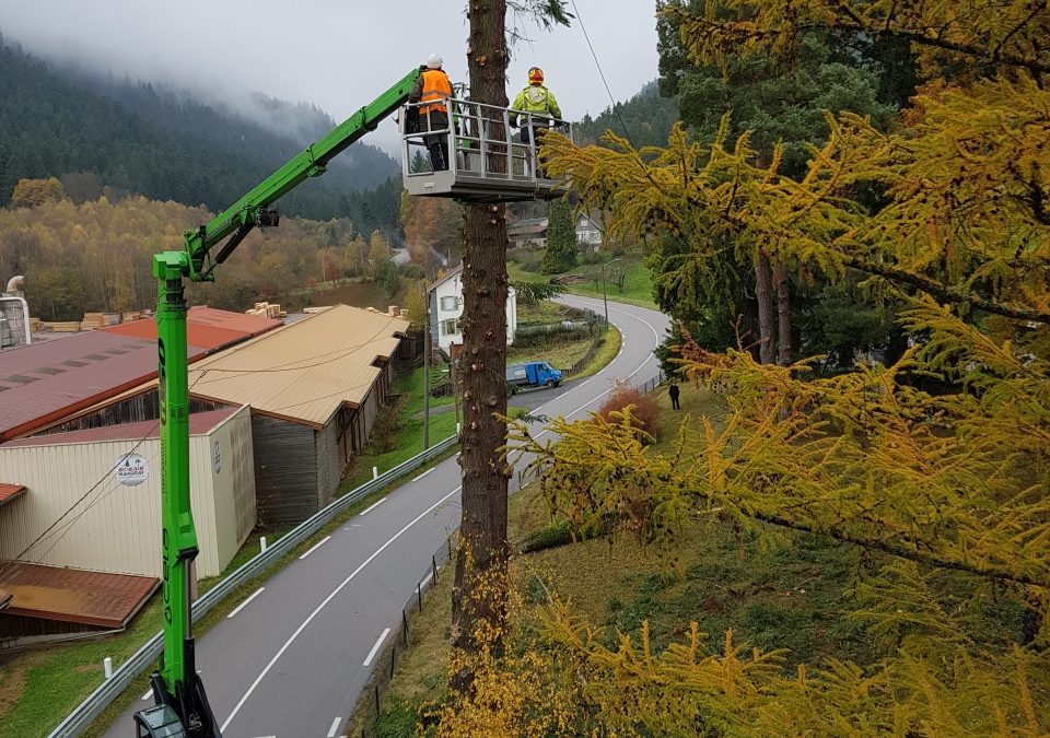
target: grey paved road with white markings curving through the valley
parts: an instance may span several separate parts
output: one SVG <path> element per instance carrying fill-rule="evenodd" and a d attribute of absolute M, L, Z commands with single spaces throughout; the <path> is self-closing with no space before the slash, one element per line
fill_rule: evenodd
<path fill-rule="evenodd" d="M 586 297 L 559 302 L 602 309 L 600 301 Z M 587 379 L 536 393 L 545 401 L 534 413 L 584 417 L 612 379 L 640 385 L 657 374 L 652 350 L 667 318 L 615 304 L 609 319 L 623 336 L 612 363 Z M 342 736 L 375 667 L 371 655 L 458 522 L 459 466 L 452 458 L 346 523 L 208 631 L 197 663 L 223 736 Z M 140 700 L 133 710 L 148 704 Z M 105 735 L 132 733 L 128 711 Z"/>

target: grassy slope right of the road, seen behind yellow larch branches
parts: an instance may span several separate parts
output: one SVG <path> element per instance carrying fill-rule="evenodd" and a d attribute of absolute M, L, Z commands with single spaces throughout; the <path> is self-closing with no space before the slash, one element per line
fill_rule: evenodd
<path fill-rule="evenodd" d="M 657 401 L 657 445 L 664 448 L 674 443 L 686 413 L 693 423 L 701 414 L 715 425 L 724 418 L 721 398 L 690 386 L 682 387 L 681 412 L 670 410 L 665 390 Z M 551 523 L 535 485 L 511 497 L 510 518 L 512 542 Z M 618 534 L 520 557 L 520 583 L 527 595 L 535 595 L 540 588 L 532 579 L 541 577 L 548 588 L 571 598 L 579 613 L 606 625 L 609 645 L 617 630 L 637 633 L 648 620 L 654 645 L 662 647 L 696 620 L 713 648 L 721 648 L 732 628 L 737 643 L 790 648 L 790 664 L 829 658 L 864 664 L 878 657 L 877 643 L 843 614 L 850 607 L 854 550 L 812 536 L 784 537 L 779 546 L 763 547 L 747 536 L 738 539 L 728 524 L 718 520 L 687 520 L 680 532 L 682 577 L 668 576 L 655 551 Z M 405 725 L 406 704 L 441 698 L 446 683 L 444 637 L 444 629 L 430 628 L 413 646 L 425 658 L 410 653 L 402 661 L 410 667 L 398 667 L 387 702 L 390 713 L 377 728 L 386 722 Z"/>

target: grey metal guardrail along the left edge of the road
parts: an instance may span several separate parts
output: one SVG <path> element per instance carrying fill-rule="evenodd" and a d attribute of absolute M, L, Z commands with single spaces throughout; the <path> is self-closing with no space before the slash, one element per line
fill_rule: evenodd
<path fill-rule="evenodd" d="M 312 517 L 304 520 L 283 538 L 269 547 L 265 552 L 255 555 L 244 563 L 230 576 L 212 587 L 206 595 L 194 602 L 192 620 L 198 622 L 208 614 L 228 596 L 237 590 L 243 584 L 252 581 L 264 573 L 271 565 L 295 549 L 300 543 L 313 536 L 315 532 L 330 523 L 337 515 L 346 511 L 353 503 L 376 492 L 393 481 L 410 473 L 427 461 L 442 455 L 458 443 L 458 437 L 448 436 L 439 444 L 431 446 L 422 454 L 398 464 L 393 469 L 384 471 L 375 479 L 365 482 L 361 487 L 345 494 L 334 501 L 327 507 L 315 513 Z M 435 565 L 436 566 L 436 565 Z M 66 736 L 79 736 L 91 723 L 105 710 L 110 702 L 124 692 L 131 682 L 147 669 L 151 668 L 161 655 L 164 648 L 163 633 L 158 633 L 150 639 L 145 645 L 135 652 L 128 660 L 120 665 L 114 671 L 113 677 L 106 679 L 101 687 L 92 692 L 86 700 L 80 703 L 57 728 L 55 728 L 49 738 L 65 738 Z"/>

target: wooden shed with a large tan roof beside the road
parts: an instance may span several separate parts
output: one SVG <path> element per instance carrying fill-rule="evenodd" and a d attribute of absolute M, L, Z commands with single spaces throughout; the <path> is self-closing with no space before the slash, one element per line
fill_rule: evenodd
<path fill-rule="evenodd" d="M 190 367 L 191 395 L 249 405 L 259 523 L 301 523 L 328 504 L 394 382 L 409 324 L 347 305 Z"/>

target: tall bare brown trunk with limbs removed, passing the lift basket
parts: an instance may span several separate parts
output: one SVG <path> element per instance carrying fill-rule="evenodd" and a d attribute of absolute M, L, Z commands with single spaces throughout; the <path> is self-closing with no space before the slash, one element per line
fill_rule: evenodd
<path fill-rule="evenodd" d="M 506 107 L 505 0 L 469 5 L 471 99 Z M 490 124 L 491 125 L 491 124 Z M 499 133 L 499 131 L 493 131 Z M 502 204 L 466 208 L 463 259 L 463 518 L 452 593 L 452 687 L 470 689 L 475 657 L 499 648 L 506 620 L 506 213 Z"/>

